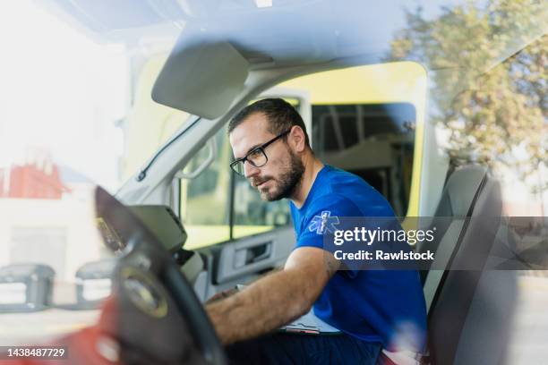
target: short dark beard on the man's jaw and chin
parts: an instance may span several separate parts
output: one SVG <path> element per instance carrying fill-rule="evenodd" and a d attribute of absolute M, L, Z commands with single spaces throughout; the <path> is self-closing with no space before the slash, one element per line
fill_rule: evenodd
<path fill-rule="evenodd" d="M 303 161 L 301 161 L 301 159 L 291 150 L 289 151 L 288 165 L 287 171 L 280 174 L 278 178 L 275 178 L 274 176 L 265 176 L 261 180 L 253 180 L 252 183 L 254 186 L 270 180 L 275 183 L 274 187 L 271 189 L 261 191 L 259 188 L 261 199 L 276 201 L 279 199 L 291 198 L 293 196 L 297 187 L 301 184 L 304 174 L 304 165 Z"/>

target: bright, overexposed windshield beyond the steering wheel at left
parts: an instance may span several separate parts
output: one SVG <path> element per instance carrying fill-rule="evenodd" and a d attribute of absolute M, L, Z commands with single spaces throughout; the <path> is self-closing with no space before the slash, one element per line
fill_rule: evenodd
<path fill-rule="evenodd" d="M 116 262 L 99 233 L 116 233 L 95 190 L 116 192 L 190 116 L 150 99 L 176 32 L 151 46 L 94 38 L 45 3 L 0 4 L 3 346 L 97 322 Z"/>

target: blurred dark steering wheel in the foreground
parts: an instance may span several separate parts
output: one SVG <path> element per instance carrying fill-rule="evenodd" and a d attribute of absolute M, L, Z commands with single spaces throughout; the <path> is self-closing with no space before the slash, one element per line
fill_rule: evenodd
<path fill-rule="evenodd" d="M 227 363 L 210 319 L 175 259 L 107 191 L 98 188 L 95 198 L 98 219 L 107 225 L 108 233 L 101 231 L 106 246 L 116 247 L 113 239 L 121 242 L 111 310 L 103 311 L 98 325 L 120 344 L 121 360 Z"/>

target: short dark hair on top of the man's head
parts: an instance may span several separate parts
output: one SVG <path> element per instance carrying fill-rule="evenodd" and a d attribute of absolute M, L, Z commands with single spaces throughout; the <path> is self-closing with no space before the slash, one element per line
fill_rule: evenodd
<path fill-rule="evenodd" d="M 310 141 L 303 118 L 296 111 L 295 107 L 282 98 L 265 98 L 255 101 L 249 106 L 245 106 L 228 123 L 228 134 L 234 131 L 235 127 L 244 122 L 246 118 L 256 113 L 266 116 L 269 121 L 269 132 L 272 134 L 286 132 L 294 125 L 301 127 L 304 132 L 304 142 L 310 148 Z"/>

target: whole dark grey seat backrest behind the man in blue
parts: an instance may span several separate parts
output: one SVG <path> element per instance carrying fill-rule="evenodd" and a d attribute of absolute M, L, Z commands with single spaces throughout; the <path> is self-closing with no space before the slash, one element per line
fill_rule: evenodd
<path fill-rule="evenodd" d="M 428 326 L 429 350 L 434 364 L 455 363 L 471 303 L 483 276 L 482 269 L 492 250 L 501 221 L 499 183 L 494 181 L 484 168 L 467 171 L 471 171 L 471 174 L 458 176 L 456 183 L 460 187 L 456 186 L 452 188 L 455 191 L 448 191 L 451 209 L 457 213 L 455 216 L 460 216 L 467 209 L 466 217 L 460 229 L 450 226 L 441 238 L 438 250 L 448 250 L 450 253 L 446 255 L 446 269 L 440 270 L 441 273 L 437 274 L 439 283 L 434 283 L 433 278 L 430 279 L 432 272 L 426 277 L 426 284 L 437 284 L 435 290 L 427 288 L 426 284 L 424 286 L 425 289 L 433 290 Z M 479 177 L 482 175 L 480 180 Z M 473 183 L 472 177 L 475 180 Z M 480 180 L 479 186 L 477 180 Z M 470 199 L 469 195 L 473 196 L 469 202 L 455 199 L 458 196 L 467 196 L 467 199 Z M 445 247 L 446 244 L 452 246 L 452 250 Z M 482 326 L 487 324 L 478 323 L 478 328 Z"/>

